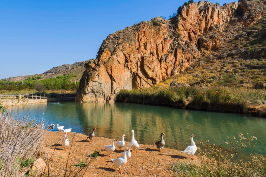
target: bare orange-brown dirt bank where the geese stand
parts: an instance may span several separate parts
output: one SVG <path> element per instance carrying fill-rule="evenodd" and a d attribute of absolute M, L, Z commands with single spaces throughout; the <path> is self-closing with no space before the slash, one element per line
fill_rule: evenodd
<path fill-rule="evenodd" d="M 128 136 L 131 135 L 128 133 Z M 85 141 L 87 135 L 70 132 L 68 137 L 71 149 L 69 146 L 69 149 L 64 151 L 61 146 L 63 137 L 63 132 L 47 132 L 44 139 L 45 153 L 48 158 L 53 157 L 53 162 L 49 162 L 49 166 L 52 166 L 53 175 L 63 176 L 68 156 L 69 165 L 67 167 L 69 169 L 67 174 L 70 171 L 74 173 L 74 170 L 78 169 L 74 165 L 82 161 L 85 162 L 86 159 L 92 159 L 88 155 L 92 154 L 96 148 L 99 150 L 100 156 L 92 159 L 84 176 L 171 176 L 173 163 L 178 161 L 199 163 L 201 161 L 197 156 L 194 156 L 196 158 L 194 161 L 178 150 L 164 148 L 163 152 L 159 152 L 155 145 L 140 144 L 138 153 L 132 154 L 129 160 L 130 164 L 124 165 L 122 167 L 124 173 L 120 174 L 103 147 L 111 144 L 111 139 L 95 137 L 94 141 L 90 142 Z M 128 147 L 128 145 L 129 143 L 126 142 L 124 147 Z M 123 151 L 118 151 L 117 149 L 116 147 L 116 150 L 112 153 L 112 158 L 121 157 L 120 153 Z"/>

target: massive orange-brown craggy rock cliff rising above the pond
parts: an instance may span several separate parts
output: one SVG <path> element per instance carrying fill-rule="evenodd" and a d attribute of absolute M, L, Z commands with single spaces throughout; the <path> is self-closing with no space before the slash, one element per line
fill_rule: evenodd
<path fill-rule="evenodd" d="M 194 2 L 180 7 L 169 20 L 157 17 L 110 34 L 97 58 L 85 64 L 76 101 L 114 101 L 121 89 L 151 87 L 183 72 L 234 37 L 234 31 L 260 19 L 265 4 L 266 0 L 223 6 Z"/>

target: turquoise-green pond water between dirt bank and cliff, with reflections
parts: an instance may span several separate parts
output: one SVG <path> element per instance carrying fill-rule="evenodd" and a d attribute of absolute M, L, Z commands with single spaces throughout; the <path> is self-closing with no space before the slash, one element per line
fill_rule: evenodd
<path fill-rule="evenodd" d="M 239 133 L 248 132 L 257 137 L 257 145 L 242 152 L 266 154 L 265 118 L 132 103 L 60 102 L 11 106 L 7 111 L 20 115 L 28 111 L 32 118 L 43 117 L 47 124 L 64 125 L 72 128 L 72 132 L 86 135 L 96 127 L 95 136 L 110 139 L 121 140 L 126 134 L 125 141 L 130 141 L 130 130 L 134 129 L 140 144 L 153 144 L 164 132 L 165 147 L 177 150 L 184 150 L 190 144 L 191 134 L 196 135 L 194 140 L 208 139 L 210 143 L 225 146 L 227 136 L 238 138 Z"/>

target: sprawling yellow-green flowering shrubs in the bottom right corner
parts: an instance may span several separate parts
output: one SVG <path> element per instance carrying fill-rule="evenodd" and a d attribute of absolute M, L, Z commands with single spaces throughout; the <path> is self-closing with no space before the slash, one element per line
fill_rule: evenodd
<path fill-rule="evenodd" d="M 243 160 L 237 153 L 244 148 L 255 146 L 255 136 L 243 135 L 239 138 L 228 137 L 225 144 L 228 150 L 210 144 L 209 140 L 197 141 L 198 158 L 203 159 L 199 164 L 177 162 L 172 166 L 176 176 L 266 176 L 266 157 L 259 154 L 250 154 L 250 159 Z M 236 157 L 238 156 L 238 157 Z"/>

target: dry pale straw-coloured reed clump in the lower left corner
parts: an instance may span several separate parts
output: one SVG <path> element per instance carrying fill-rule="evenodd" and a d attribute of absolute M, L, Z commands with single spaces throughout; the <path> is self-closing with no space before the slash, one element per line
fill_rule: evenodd
<path fill-rule="evenodd" d="M 35 121 L 29 120 L 28 115 L 0 113 L 0 176 L 21 176 L 21 162 L 40 154 L 45 131 L 32 128 Z"/>

